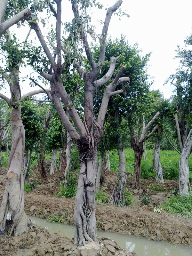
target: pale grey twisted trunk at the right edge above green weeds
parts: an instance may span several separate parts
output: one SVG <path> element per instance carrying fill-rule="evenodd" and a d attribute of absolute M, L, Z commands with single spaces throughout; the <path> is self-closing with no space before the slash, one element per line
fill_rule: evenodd
<path fill-rule="evenodd" d="M 179 192 L 181 196 L 188 196 L 188 179 L 189 179 L 189 166 L 188 158 L 191 153 L 192 146 L 192 130 L 189 132 L 185 141 L 180 159 L 179 159 Z"/>

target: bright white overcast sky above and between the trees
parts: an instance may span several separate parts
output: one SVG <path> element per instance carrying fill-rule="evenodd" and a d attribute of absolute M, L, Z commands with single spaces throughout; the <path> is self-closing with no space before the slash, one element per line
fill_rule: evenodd
<path fill-rule="evenodd" d="M 104 20 L 105 8 L 114 3 L 115 0 L 100 0 L 100 4 L 104 5 L 102 11 L 96 8 L 90 15 L 97 27 L 97 33 L 101 33 L 102 29 L 98 19 Z M 70 1 L 63 0 L 62 4 L 62 20 L 70 21 L 72 15 Z M 151 89 L 159 89 L 164 94 L 164 98 L 169 98 L 174 88 L 171 85 L 163 86 L 163 84 L 179 66 L 179 60 L 173 59 L 176 55 L 177 45 L 184 45 L 185 36 L 191 34 L 192 1 L 123 0 L 121 9 L 126 10 L 130 17 L 124 16 L 119 20 L 118 16 L 113 15 L 108 35 L 115 39 L 122 33 L 126 36 L 129 44 L 133 45 L 138 42 L 143 54 L 152 52 L 148 69 L 149 75 L 154 76 L 154 84 Z M 26 37 L 25 33 L 23 33 L 23 37 Z M 34 37 L 35 32 L 31 35 L 31 38 Z M 31 90 L 27 89 L 27 83 L 28 81 L 22 88 L 22 94 Z M 8 90 L 6 94 L 8 96 Z"/>

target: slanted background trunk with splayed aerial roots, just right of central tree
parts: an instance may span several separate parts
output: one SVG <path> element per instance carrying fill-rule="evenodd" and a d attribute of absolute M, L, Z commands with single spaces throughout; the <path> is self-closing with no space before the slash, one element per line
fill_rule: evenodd
<path fill-rule="evenodd" d="M 124 148 L 118 149 L 118 155 L 119 155 L 119 173 L 117 174 L 115 188 L 113 190 L 109 203 L 115 206 L 117 205 L 124 206 L 125 204 L 124 192 L 125 192 L 125 184 L 127 179 Z"/>

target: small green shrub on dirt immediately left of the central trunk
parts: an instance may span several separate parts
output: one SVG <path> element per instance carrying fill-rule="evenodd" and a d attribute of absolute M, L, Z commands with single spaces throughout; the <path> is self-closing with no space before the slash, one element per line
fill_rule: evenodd
<path fill-rule="evenodd" d="M 60 182 L 61 189 L 56 197 L 75 197 L 77 192 L 77 175 L 73 176 L 71 172 L 67 177 L 67 188 L 65 187 L 65 181 Z"/>

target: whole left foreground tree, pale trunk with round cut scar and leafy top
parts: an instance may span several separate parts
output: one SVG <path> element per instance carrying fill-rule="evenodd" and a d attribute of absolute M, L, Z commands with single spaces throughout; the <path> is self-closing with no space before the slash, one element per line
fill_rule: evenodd
<path fill-rule="evenodd" d="M 24 181 L 23 181 L 23 156 L 25 150 L 25 131 L 21 120 L 21 101 L 27 97 L 42 93 L 45 90 L 36 90 L 21 97 L 19 69 L 24 58 L 24 48 L 17 43 L 15 36 L 11 37 L 6 31 L 1 37 L 1 49 L 6 56 L 7 66 L 2 65 L 2 78 L 9 84 L 11 98 L 0 93 L 10 108 L 12 125 L 12 148 L 9 156 L 7 180 L 4 196 L 0 207 L 0 229 L 4 232 L 7 228 L 9 235 L 20 235 L 28 229 L 30 221 L 24 212 Z M 7 227 L 7 213 L 11 214 L 11 226 Z"/>

